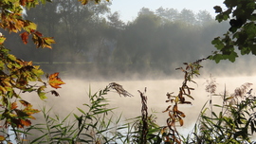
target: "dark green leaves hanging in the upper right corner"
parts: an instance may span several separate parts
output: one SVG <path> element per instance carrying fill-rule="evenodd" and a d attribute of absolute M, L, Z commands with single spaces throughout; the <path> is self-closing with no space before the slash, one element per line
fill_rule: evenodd
<path fill-rule="evenodd" d="M 256 9 L 255 0 L 225 0 L 227 9 L 223 10 L 215 6 L 215 12 L 218 13 L 216 20 L 219 22 L 229 21 L 229 31 L 224 37 L 216 37 L 211 43 L 217 48 L 210 56 L 211 60 L 219 63 L 220 60 L 229 60 L 234 62 L 238 57 L 236 48 L 242 55 L 256 55 Z"/>

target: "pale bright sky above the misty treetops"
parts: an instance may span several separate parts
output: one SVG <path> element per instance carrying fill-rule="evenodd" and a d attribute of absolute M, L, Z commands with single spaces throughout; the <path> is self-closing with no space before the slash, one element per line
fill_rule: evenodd
<path fill-rule="evenodd" d="M 155 11 L 160 7 L 163 9 L 191 9 L 194 13 L 199 10 L 207 10 L 215 16 L 214 6 L 224 6 L 224 0 L 111 0 L 112 12 L 119 11 L 120 19 L 132 21 L 137 17 L 139 9 L 145 7 Z"/>

